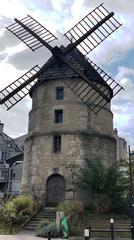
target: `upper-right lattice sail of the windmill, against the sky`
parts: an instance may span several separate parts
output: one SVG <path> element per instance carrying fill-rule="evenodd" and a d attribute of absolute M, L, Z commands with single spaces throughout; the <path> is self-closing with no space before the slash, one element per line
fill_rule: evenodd
<path fill-rule="evenodd" d="M 114 13 L 100 4 L 64 35 L 73 43 L 72 47 L 77 46 L 87 55 L 120 26 Z"/>

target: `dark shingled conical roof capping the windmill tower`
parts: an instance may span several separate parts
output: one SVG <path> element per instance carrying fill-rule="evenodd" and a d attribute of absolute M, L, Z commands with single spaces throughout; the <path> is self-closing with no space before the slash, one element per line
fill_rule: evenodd
<path fill-rule="evenodd" d="M 61 50 L 64 51 L 64 47 L 60 47 Z M 79 71 L 81 71 L 90 81 L 94 81 L 106 86 L 109 89 L 109 92 L 112 96 L 113 91 L 108 86 L 108 84 L 103 80 L 103 78 L 99 75 L 99 73 L 93 68 L 93 66 L 88 62 L 88 60 L 84 57 L 84 55 L 75 48 L 70 53 L 66 54 L 65 59 L 74 67 L 76 67 Z M 61 60 L 56 60 L 53 63 L 54 57 L 51 57 L 44 67 L 49 63 L 50 66 L 47 70 L 44 70 L 43 74 L 39 76 L 37 83 L 31 88 L 30 96 L 32 97 L 32 92 L 35 88 L 37 88 L 40 84 L 43 84 L 45 81 L 56 80 L 56 79 L 73 79 L 79 78 L 78 74 L 72 70 L 69 66 L 67 66 Z"/>

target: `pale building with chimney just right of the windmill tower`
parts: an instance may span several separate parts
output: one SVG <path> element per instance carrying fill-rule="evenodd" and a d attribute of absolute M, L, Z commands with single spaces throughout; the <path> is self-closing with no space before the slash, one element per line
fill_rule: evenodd
<path fill-rule="evenodd" d="M 124 138 L 118 136 L 117 128 L 113 131 L 114 137 L 116 138 L 116 158 L 117 161 L 127 161 L 127 142 Z"/>

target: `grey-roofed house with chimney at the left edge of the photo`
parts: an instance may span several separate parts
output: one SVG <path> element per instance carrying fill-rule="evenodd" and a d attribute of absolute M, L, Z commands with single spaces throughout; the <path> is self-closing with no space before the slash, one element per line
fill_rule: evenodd
<path fill-rule="evenodd" d="M 9 165 L 7 160 L 23 153 L 23 147 L 5 134 L 3 129 L 4 124 L 0 121 L 0 196 L 7 195 L 8 191 Z"/>

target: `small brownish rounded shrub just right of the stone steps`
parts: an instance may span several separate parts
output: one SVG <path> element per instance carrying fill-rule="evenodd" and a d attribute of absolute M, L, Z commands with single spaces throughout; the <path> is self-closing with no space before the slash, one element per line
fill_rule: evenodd
<path fill-rule="evenodd" d="M 64 201 L 59 204 L 58 210 L 63 211 L 65 216 L 69 216 L 70 221 L 74 221 L 83 213 L 83 204 L 80 201 Z"/>

